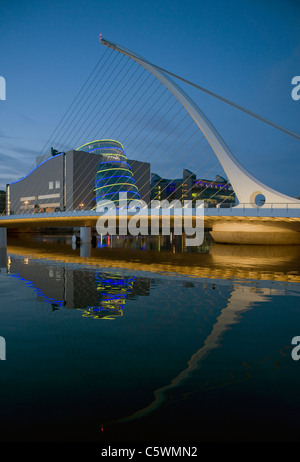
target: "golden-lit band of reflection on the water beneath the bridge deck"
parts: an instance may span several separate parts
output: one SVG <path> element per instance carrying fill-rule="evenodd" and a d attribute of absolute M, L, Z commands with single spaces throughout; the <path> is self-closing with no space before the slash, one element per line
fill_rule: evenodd
<path fill-rule="evenodd" d="M 185 274 L 190 277 L 300 282 L 300 246 L 214 244 L 185 248 L 184 237 L 115 238 L 98 236 L 93 245 L 71 236 L 10 237 L 8 249 L 32 258 L 85 263 L 133 271 Z"/>

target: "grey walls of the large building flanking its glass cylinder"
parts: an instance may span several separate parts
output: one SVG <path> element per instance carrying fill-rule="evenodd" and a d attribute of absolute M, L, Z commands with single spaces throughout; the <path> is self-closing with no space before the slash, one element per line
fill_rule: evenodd
<path fill-rule="evenodd" d="M 84 151 L 87 146 L 66 153 L 52 150 L 51 157 L 37 158 L 38 165 L 28 175 L 8 185 L 8 214 L 95 209 L 95 181 L 102 156 Z M 127 163 L 141 198 L 148 203 L 150 164 L 130 159 Z"/>

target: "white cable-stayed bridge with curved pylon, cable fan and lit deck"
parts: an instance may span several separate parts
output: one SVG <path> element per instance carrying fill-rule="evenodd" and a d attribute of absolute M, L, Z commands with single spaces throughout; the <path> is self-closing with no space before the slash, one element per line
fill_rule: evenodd
<path fill-rule="evenodd" d="M 163 204 L 189 201 L 195 224 L 200 201 L 204 227 L 216 242 L 300 244 L 300 200 L 251 175 L 171 77 L 296 139 L 300 136 L 102 36 L 100 41 L 105 52 L 35 165 L 7 186 L 0 246 L 6 247 L 7 228 L 21 227 L 80 227 L 82 241 L 88 242 L 106 202 L 115 206 L 120 226 L 120 193 L 140 204 L 135 211 L 127 209 L 127 220 L 136 215 L 151 223 L 153 213 L 147 207 L 156 201 L 161 223 Z M 51 154 L 49 146 L 55 146 Z M 216 179 L 208 180 L 212 175 Z M 174 204 L 169 208 L 173 226 Z"/>

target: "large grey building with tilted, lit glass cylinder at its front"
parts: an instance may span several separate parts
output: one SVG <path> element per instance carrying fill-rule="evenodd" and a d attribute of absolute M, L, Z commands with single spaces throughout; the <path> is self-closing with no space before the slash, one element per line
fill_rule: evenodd
<path fill-rule="evenodd" d="M 104 173 L 119 178 L 104 180 Z M 114 183 L 106 188 L 111 180 Z M 120 143 L 97 140 L 66 153 L 51 148 L 50 157 L 38 157 L 30 173 L 8 185 L 7 210 L 8 214 L 92 210 L 100 191 L 111 198 L 113 194 L 108 194 L 121 186 L 133 193 L 129 199 L 140 196 L 150 201 L 150 164 L 127 159 Z"/>

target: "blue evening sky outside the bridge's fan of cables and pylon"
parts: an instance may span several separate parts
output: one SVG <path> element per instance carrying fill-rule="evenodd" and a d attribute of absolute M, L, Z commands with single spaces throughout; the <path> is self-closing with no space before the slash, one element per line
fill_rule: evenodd
<path fill-rule="evenodd" d="M 1 0 L 0 31 L 0 188 L 41 153 L 105 51 L 99 33 L 300 133 L 300 100 L 291 98 L 300 75 L 297 1 Z M 300 195 L 298 140 L 184 89 L 254 176 Z"/>

